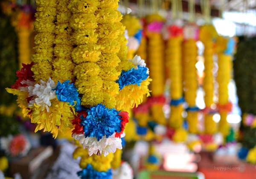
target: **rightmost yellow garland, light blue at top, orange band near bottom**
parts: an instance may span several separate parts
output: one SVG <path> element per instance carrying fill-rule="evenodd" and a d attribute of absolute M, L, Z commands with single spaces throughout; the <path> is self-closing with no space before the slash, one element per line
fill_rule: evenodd
<path fill-rule="evenodd" d="M 224 43 L 223 48 L 221 48 L 221 43 Z M 219 122 L 218 130 L 227 136 L 229 133 L 230 126 L 227 122 L 227 114 L 232 110 L 232 104 L 229 102 L 228 95 L 228 84 L 230 82 L 232 73 L 232 58 L 236 46 L 236 41 L 233 38 L 225 39 L 219 37 L 217 39 L 217 46 L 220 45 L 218 49 L 218 110 L 221 115 L 221 120 Z"/>

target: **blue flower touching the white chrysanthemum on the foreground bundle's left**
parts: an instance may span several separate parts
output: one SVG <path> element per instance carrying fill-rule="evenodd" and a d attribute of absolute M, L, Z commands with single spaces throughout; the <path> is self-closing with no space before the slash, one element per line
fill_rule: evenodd
<path fill-rule="evenodd" d="M 69 83 L 70 80 L 64 81 L 62 84 L 58 81 L 55 88 L 56 95 L 59 101 L 68 102 L 70 105 L 75 105 L 76 111 L 81 111 L 81 99 L 79 97 L 79 92 L 73 83 Z M 76 101 L 76 103 L 75 103 Z"/>

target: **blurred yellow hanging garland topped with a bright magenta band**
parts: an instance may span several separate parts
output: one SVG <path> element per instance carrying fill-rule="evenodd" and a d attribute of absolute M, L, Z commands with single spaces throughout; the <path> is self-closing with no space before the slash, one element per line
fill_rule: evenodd
<path fill-rule="evenodd" d="M 164 22 L 163 17 L 158 14 L 151 14 L 146 17 L 147 28 L 146 35 L 148 38 L 148 58 L 149 69 L 151 72 L 151 98 L 159 98 L 164 92 L 164 63 L 163 52 L 164 43 L 161 35 Z M 164 102 L 163 102 L 164 103 Z M 151 105 L 151 115 L 155 122 L 165 125 L 166 119 L 163 113 L 163 103 L 156 102 Z"/>

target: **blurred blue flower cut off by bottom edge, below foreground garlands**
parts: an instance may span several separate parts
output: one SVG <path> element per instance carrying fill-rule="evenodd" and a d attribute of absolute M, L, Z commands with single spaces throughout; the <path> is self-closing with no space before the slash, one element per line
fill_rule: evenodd
<path fill-rule="evenodd" d="M 81 179 L 112 179 L 111 169 L 106 172 L 99 172 L 94 170 L 90 164 L 87 164 L 86 168 L 77 172 L 77 175 L 80 176 Z"/>

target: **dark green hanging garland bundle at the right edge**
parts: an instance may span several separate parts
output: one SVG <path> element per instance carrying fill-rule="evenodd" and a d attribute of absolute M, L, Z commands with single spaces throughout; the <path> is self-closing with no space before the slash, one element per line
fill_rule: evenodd
<path fill-rule="evenodd" d="M 255 43 L 256 38 L 241 37 L 233 61 L 239 107 L 242 112 L 239 141 L 242 147 L 238 156 L 256 164 L 256 107 Z"/>

